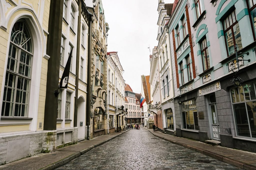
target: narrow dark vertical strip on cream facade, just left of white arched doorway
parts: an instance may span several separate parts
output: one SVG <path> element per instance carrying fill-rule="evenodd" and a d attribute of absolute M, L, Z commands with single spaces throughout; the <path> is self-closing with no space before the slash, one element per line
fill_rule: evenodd
<path fill-rule="evenodd" d="M 77 27 L 77 57 L 76 57 L 76 94 L 75 94 L 75 109 L 74 109 L 74 127 L 77 127 L 77 110 L 78 110 L 78 80 L 79 80 L 79 57 L 80 57 L 80 30 L 81 30 L 81 13 L 82 4 L 79 1 L 79 15 L 78 15 L 78 27 Z"/>

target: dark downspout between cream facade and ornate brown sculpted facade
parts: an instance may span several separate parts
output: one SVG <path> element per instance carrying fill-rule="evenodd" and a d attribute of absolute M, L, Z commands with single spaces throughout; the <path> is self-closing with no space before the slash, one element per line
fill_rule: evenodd
<path fill-rule="evenodd" d="M 90 23 L 88 25 L 88 64 L 87 64 L 87 95 L 86 95 L 86 125 L 87 125 L 87 140 L 89 140 L 89 126 L 91 113 L 91 44 L 92 44 L 92 22 L 93 14 L 88 18 Z"/>

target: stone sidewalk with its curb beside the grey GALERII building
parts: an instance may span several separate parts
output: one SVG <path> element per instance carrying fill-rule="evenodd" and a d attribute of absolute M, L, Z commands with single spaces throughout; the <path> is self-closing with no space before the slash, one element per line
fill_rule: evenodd
<path fill-rule="evenodd" d="M 225 148 L 221 146 L 211 146 L 206 143 L 188 138 L 175 137 L 172 135 L 161 133 L 159 131 L 154 132 L 153 129 L 147 130 L 156 137 L 211 156 L 212 158 L 215 158 L 217 160 L 229 163 L 231 165 L 235 165 L 243 169 L 256 170 L 256 153 Z"/>

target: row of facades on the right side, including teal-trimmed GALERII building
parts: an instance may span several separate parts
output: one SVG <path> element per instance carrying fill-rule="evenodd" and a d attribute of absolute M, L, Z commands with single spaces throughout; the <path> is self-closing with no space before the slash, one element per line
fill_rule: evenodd
<path fill-rule="evenodd" d="M 163 133 L 255 152 L 255 1 L 158 2 L 144 110 Z"/>

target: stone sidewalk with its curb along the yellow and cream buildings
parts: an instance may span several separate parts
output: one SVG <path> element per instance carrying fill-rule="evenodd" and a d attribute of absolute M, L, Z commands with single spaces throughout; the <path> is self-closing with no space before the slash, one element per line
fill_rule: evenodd
<path fill-rule="evenodd" d="M 76 145 L 59 148 L 56 150 L 56 152 L 37 154 L 35 156 L 1 165 L 0 169 L 55 169 L 88 152 L 92 148 L 102 145 L 103 143 L 114 139 L 127 131 L 129 130 L 98 136 L 91 140 L 84 140 L 78 142 Z"/>

